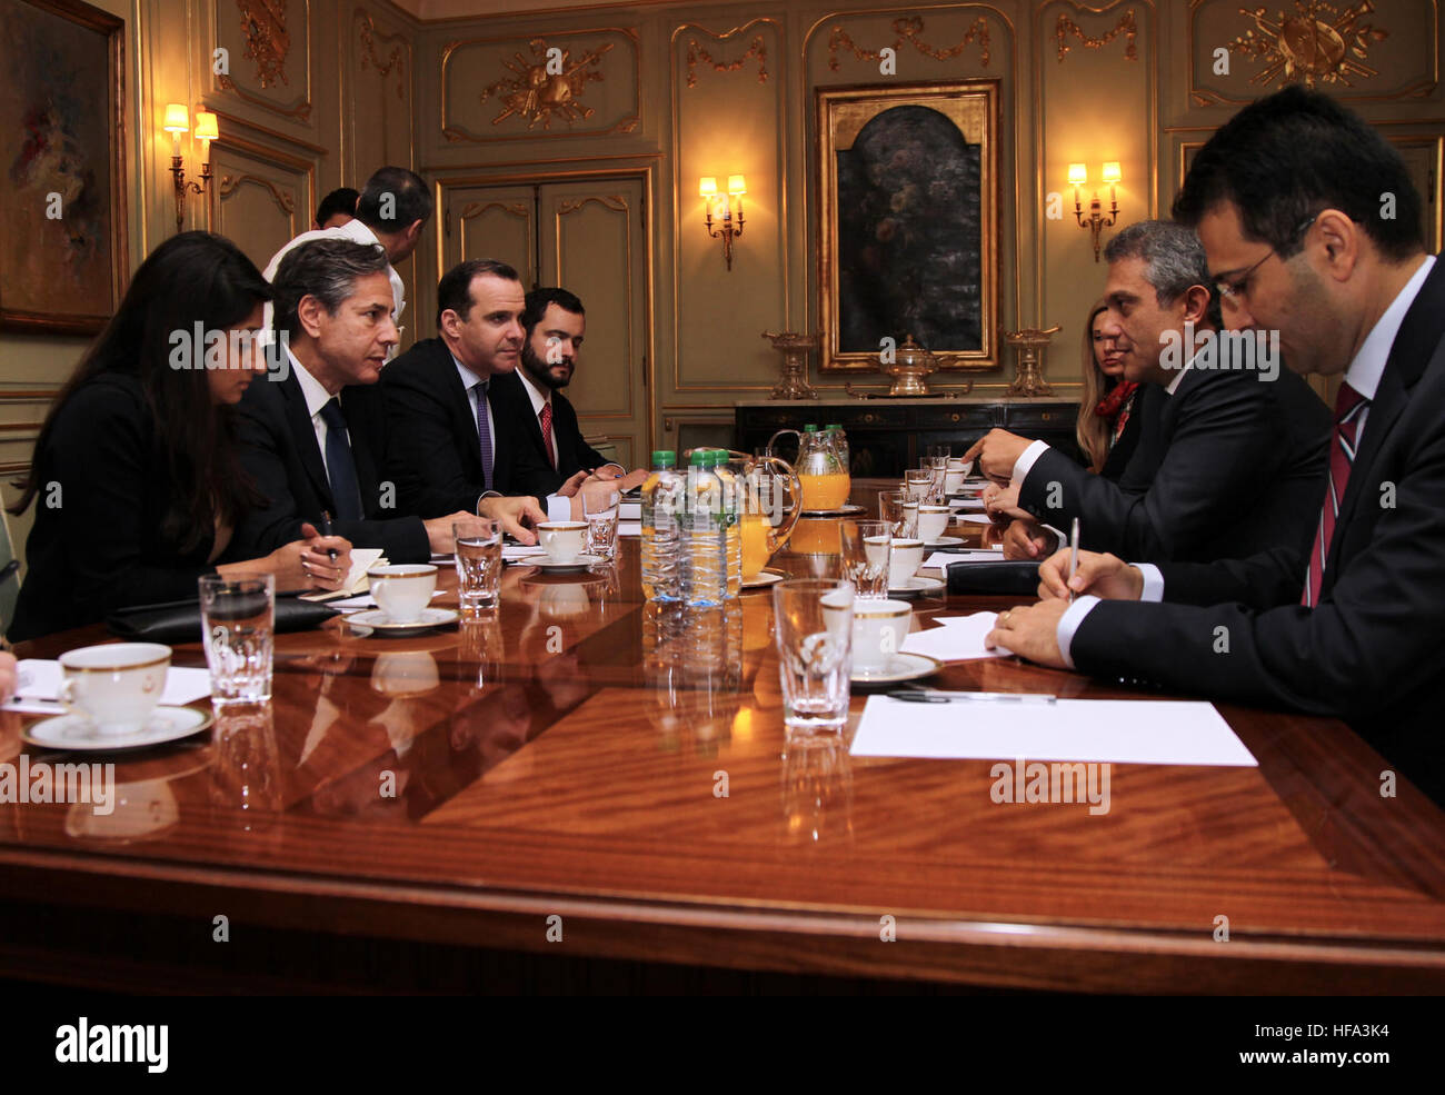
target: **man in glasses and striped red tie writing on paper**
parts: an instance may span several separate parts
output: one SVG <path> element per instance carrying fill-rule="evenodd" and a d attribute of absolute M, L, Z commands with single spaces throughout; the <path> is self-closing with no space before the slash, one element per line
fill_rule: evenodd
<path fill-rule="evenodd" d="M 1445 802 L 1445 266 L 1423 250 L 1405 163 L 1292 87 L 1215 133 L 1175 215 L 1198 225 L 1231 326 L 1279 329 L 1293 368 L 1342 374 L 1324 504 L 1303 537 L 1282 529 L 1305 548 L 1212 566 L 1090 553 L 1074 589 L 1091 595 L 1072 605 L 1061 553 L 1040 568 L 1051 600 L 1001 614 L 990 641 L 1335 715 Z M 1360 777 L 1390 793 L 1389 776 Z"/>

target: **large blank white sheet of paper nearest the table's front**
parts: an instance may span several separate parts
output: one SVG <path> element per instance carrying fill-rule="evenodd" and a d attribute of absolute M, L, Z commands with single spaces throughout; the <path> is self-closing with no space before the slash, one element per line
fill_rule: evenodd
<path fill-rule="evenodd" d="M 868 696 L 853 756 L 1225 767 L 1259 763 L 1212 704 L 1173 699 L 909 704 Z"/>

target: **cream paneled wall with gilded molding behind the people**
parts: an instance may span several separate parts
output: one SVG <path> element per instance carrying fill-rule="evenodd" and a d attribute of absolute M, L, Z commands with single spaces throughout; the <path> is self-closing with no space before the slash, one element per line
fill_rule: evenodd
<path fill-rule="evenodd" d="M 1157 215 L 1168 211 L 1188 150 L 1238 103 L 1261 94 L 1261 85 L 1250 82 L 1260 65 L 1238 51 L 1230 75 L 1212 71 L 1212 51 L 1247 29 L 1234 0 L 1092 6 L 741 0 L 591 4 L 426 22 L 387 0 L 288 0 L 286 81 L 270 87 L 262 85 L 256 62 L 243 56 L 236 0 L 95 3 L 127 23 L 131 267 L 175 231 L 169 137 L 162 133 L 158 143 L 155 136 L 169 101 L 192 110 L 205 104 L 221 116 L 211 207 L 192 202 L 188 227 L 224 230 L 257 261 L 309 225 L 321 194 L 358 185 L 381 163 L 410 163 L 438 183 L 598 170 L 640 175 L 653 195 L 647 389 L 653 436 L 639 441 L 652 445 L 673 443 L 682 422 L 730 420 L 736 399 L 766 394 L 779 358 L 760 332 L 816 322 L 811 222 L 816 88 L 1001 81 L 998 322 L 1009 329 L 1062 325 L 1048 370 L 1065 396 L 1077 390 L 1078 324 L 1104 276 L 1088 233 L 1074 222 L 1066 163 L 1084 160 L 1094 173 L 1104 159 L 1118 159 L 1123 221 Z M 423 16 L 497 7 L 464 0 L 412 6 Z M 1438 82 L 1436 9 L 1435 0 L 1377 0 L 1368 20 L 1387 36 L 1370 43 L 1367 64 L 1379 74 L 1353 77 L 1354 88 L 1329 90 L 1380 124 L 1419 165 L 1422 181 L 1431 183 L 1439 247 L 1445 92 Z M 1133 58 L 1127 27 L 1120 27 L 1130 14 Z M 877 62 L 860 61 L 847 48 L 829 49 L 835 29 L 860 49 L 894 43 L 900 38 L 894 22 L 905 17 L 920 20 L 913 36 L 933 55 L 903 40 L 894 77 L 880 75 Z M 1061 17 L 1068 46 L 1062 53 Z M 980 20 L 987 64 L 977 35 L 962 40 Z M 1100 45 L 1087 46 L 1071 26 Z M 529 55 L 535 38 L 575 52 L 611 43 L 598 65 L 603 81 L 587 84 L 579 95 L 592 117 L 555 123 L 551 131 L 527 130 L 516 117 L 493 123 L 496 100 L 483 103 L 480 92 L 510 75 L 504 64 L 516 53 Z M 218 43 L 231 51 L 231 87 L 211 68 Z M 949 56 L 936 56 L 944 53 Z M 194 156 L 186 165 L 194 170 Z M 698 175 L 731 172 L 747 173 L 750 194 L 747 230 L 727 273 L 720 246 L 704 235 L 695 194 Z M 1064 220 L 1043 215 L 1051 191 L 1066 198 Z M 409 300 L 405 342 L 432 332 L 442 231 L 434 222 L 416 257 L 402 267 Z M 6 481 L 25 469 L 46 393 L 62 383 L 84 345 L 77 338 L 0 332 Z M 980 376 L 975 390 L 1000 393 L 1012 373 L 1010 358 L 1000 373 Z M 825 393 L 841 391 L 841 378 L 819 377 L 814 368 L 812 380 Z M 3 491 L 13 498 L 9 485 Z M 23 540 L 27 519 L 13 524 Z"/>

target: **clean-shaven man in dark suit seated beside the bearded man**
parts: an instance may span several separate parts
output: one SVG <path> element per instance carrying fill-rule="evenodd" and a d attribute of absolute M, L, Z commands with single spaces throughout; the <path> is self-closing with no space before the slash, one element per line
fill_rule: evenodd
<path fill-rule="evenodd" d="M 548 497 L 548 514 L 568 520 L 585 472 L 559 481 L 522 443 L 509 404 L 488 389 L 520 360 L 522 282 L 493 259 L 458 263 L 436 286 L 436 338 L 426 338 L 381 378 L 390 428 L 389 468 L 402 506 L 423 517 L 475 506 L 480 495 Z"/>

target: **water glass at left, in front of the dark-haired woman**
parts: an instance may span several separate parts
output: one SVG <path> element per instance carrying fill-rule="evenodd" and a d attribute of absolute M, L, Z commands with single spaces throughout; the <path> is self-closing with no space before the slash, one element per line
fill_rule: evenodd
<path fill-rule="evenodd" d="M 269 701 L 276 578 L 269 574 L 234 578 L 205 575 L 199 584 L 201 637 L 207 665 L 211 666 L 211 702 Z"/>

